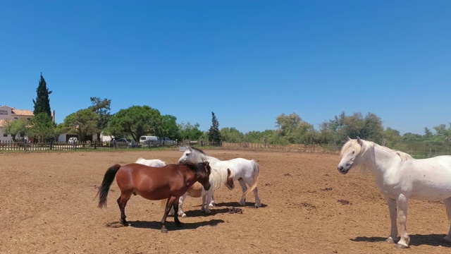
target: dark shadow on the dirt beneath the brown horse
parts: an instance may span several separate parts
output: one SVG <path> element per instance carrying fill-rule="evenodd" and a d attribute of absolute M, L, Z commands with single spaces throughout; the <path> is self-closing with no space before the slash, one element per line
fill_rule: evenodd
<path fill-rule="evenodd" d="M 201 226 L 218 226 L 223 223 L 222 219 L 210 219 L 205 222 L 183 222 L 183 226 L 176 226 L 174 222 L 166 222 L 166 228 L 170 231 L 183 230 L 183 229 L 197 229 Z M 146 221 L 129 221 L 129 226 L 137 229 L 161 229 L 161 222 L 146 222 Z M 111 228 L 122 227 L 121 222 L 110 222 L 106 226 Z"/>

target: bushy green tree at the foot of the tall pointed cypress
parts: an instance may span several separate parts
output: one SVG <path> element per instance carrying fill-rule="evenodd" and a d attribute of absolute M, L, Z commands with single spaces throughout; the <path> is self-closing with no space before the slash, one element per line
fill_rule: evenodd
<path fill-rule="evenodd" d="M 35 138 L 38 142 L 48 142 L 55 138 L 55 123 L 51 116 L 41 112 L 30 120 L 30 129 L 28 135 Z"/>

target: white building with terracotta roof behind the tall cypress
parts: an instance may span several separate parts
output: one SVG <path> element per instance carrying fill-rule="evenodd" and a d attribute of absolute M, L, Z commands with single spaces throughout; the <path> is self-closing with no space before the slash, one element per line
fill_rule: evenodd
<path fill-rule="evenodd" d="M 6 126 L 11 121 L 17 119 L 30 120 L 35 116 L 33 111 L 27 109 L 15 109 L 8 106 L 0 106 L 0 142 L 12 141 L 11 134 L 6 134 Z M 55 111 L 51 114 L 51 119 L 55 121 Z"/>

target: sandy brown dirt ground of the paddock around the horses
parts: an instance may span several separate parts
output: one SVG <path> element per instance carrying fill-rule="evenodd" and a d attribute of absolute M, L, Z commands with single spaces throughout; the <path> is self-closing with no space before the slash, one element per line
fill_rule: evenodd
<path fill-rule="evenodd" d="M 176 163 L 182 152 L 116 151 L 0 153 L 0 253 L 451 253 L 441 243 L 449 229 L 442 202 L 411 200 L 411 247 L 398 250 L 388 207 L 371 174 L 343 176 L 338 155 L 205 150 L 218 159 L 244 157 L 260 164 L 259 195 L 240 207 L 239 184 L 215 192 L 211 214 L 187 198 L 182 228 L 168 217 L 161 234 L 159 201 L 132 196 L 130 226 L 120 226 L 116 181 L 106 209 L 97 208 L 97 186 L 111 165 L 138 157 Z M 242 214 L 229 213 L 242 208 Z"/>

